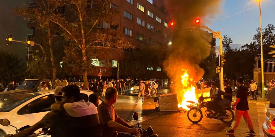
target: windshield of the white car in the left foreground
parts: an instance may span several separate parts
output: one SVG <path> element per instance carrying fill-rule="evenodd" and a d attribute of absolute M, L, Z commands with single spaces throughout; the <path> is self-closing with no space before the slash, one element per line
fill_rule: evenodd
<path fill-rule="evenodd" d="M 8 92 L 8 91 L 7 91 Z M 40 95 L 39 93 L 0 94 L 0 112 L 9 112 L 24 102 Z"/>

